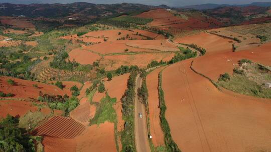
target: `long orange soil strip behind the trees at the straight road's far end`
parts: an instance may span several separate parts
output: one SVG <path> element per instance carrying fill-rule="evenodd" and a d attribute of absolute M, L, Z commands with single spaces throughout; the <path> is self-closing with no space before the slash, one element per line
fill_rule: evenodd
<path fill-rule="evenodd" d="M 146 67 L 152 60 L 160 61 L 162 59 L 168 61 L 174 55 L 174 52 L 110 55 L 104 56 L 100 61 L 100 65 L 101 67 L 105 67 L 106 70 L 117 69 L 121 65 L 138 65 L 139 67 Z"/>

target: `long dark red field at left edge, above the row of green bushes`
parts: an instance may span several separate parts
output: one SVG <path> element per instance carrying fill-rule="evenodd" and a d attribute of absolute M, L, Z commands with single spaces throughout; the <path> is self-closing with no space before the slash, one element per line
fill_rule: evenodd
<path fill-rule="evenodd" d="M 13 79 L 15 81 L 15 85 L 9 84 L 7 81 L 8 79 Z M 33 84 L 37 84 L 38 87 L 34 87 Z M 44 84 L 40 82 L 30 81 L 30 80 L 23 80 L 14 77 L 8 76 L 0 76 L 0 91 L 5 93 L 13 93 L 15 96 L 14 98 L 35 98 L 39 96 L 39 91 L 48 94 L 68 94 L 71 95 L 70 90 L 62 90 L 55 85 Z"/>

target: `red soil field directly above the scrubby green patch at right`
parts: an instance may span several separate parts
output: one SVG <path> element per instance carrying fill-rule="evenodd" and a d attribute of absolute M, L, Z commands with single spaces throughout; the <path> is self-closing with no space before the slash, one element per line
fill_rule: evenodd
<path fill-rule="evenodd" d="M 217 81 L 220 74 L 223 74 L 224 72 L 232 73 L 233 68 L 238 65 L 238 60 L 243 58 L 271 66 L 270 48 L 271 42 L 247 50 L 201 56 L 195 59 L 193 67 L 198 72 Z"/>

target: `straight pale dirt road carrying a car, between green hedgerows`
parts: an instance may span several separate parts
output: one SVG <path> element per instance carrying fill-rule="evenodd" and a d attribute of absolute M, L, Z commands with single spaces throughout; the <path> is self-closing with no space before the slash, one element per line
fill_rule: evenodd
<path fill-rule="evenodd" d="M 135 97 L 134 97 L 134 136 L 135 146 L 138 152 L 151 152 L 148 141 L 148 129 L 147 129 L 147 116 L 145 105 L 140 102 L 138 97 L 138 88 L 141 87 L 142 78 L 137 75 L 135 79 Z M 143 117 L 139 117 L 139 113 L 143 114 Z"/>

